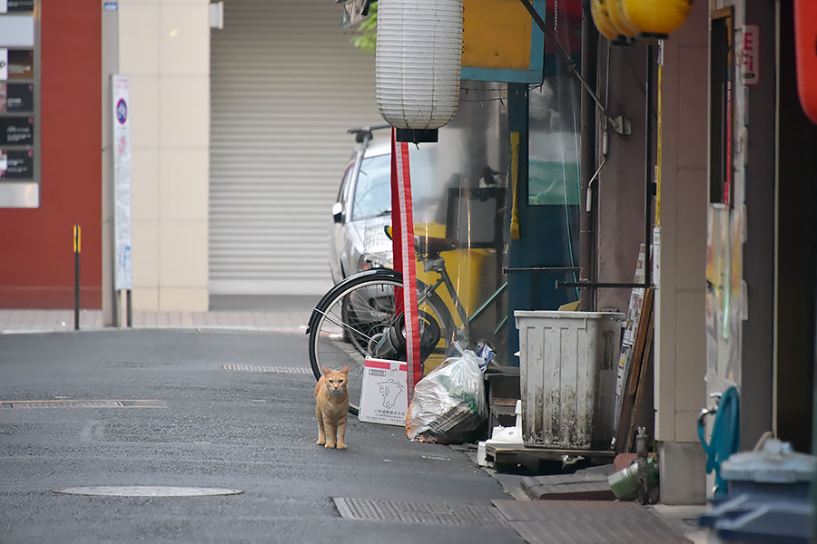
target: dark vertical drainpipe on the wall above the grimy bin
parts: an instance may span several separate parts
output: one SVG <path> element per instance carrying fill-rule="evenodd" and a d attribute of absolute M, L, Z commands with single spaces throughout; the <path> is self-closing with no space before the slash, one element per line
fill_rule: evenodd
<path fill-rule="evenodd" d="M 596 89 L 596 44 L 598 34 L 590 14 L 590 0 L 582 1 L 582 77 L 591 89 Z M 587 209 L 588 181 L 596 171 L 596 104 L 589 92 L 582 92 L 581 102 L 581 158 L 579 163 L 579 282 L 595 281 L 596 233 L 593 206 Z M 592 195 L 591 195 L 592 197 Z M 595 306 L 596 289 L 579 289 L 579 309 L 590 311 Z"/>

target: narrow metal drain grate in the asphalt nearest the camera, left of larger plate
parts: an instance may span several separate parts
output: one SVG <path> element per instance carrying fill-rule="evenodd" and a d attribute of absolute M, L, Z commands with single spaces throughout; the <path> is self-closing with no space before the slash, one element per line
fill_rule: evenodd
<path fill-rule="evenodd" d="M 496 528 L 507 521 L 491 506 L 429 504 L 395 500 L 344 499 L 335 497 L 340 516 L 349 520 L 403 521 Z"/>

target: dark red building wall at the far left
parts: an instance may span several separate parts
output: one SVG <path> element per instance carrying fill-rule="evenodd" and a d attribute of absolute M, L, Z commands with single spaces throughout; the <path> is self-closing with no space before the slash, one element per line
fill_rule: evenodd
<path fill-rule="evenodd" d="M 102 41 L 97 0 L 43 0 L 40 208 L 0 209 L 0 307 L 102 307 Z"/>

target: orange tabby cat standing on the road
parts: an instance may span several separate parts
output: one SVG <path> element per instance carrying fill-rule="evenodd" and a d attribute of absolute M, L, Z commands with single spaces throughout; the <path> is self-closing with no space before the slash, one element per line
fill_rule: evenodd
<path fill-rule="evenodd" d="M 325 448 L 345 450 L 346 414 L 349 413 L 349 366 L 330 370 L 324 366 L 323 375 L 315 385 L 315 415 L 318 416 L 318 442 Z"/>

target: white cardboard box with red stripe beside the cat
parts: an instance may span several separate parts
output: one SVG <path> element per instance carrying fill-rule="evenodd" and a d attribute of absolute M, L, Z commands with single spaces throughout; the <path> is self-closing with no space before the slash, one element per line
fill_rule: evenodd
<path fill-rule="evenodd" d="M 359 421 L 405 427 L 407 374 L 408 365 L 403 361 L 367 359 L 360 385 Z"/>

